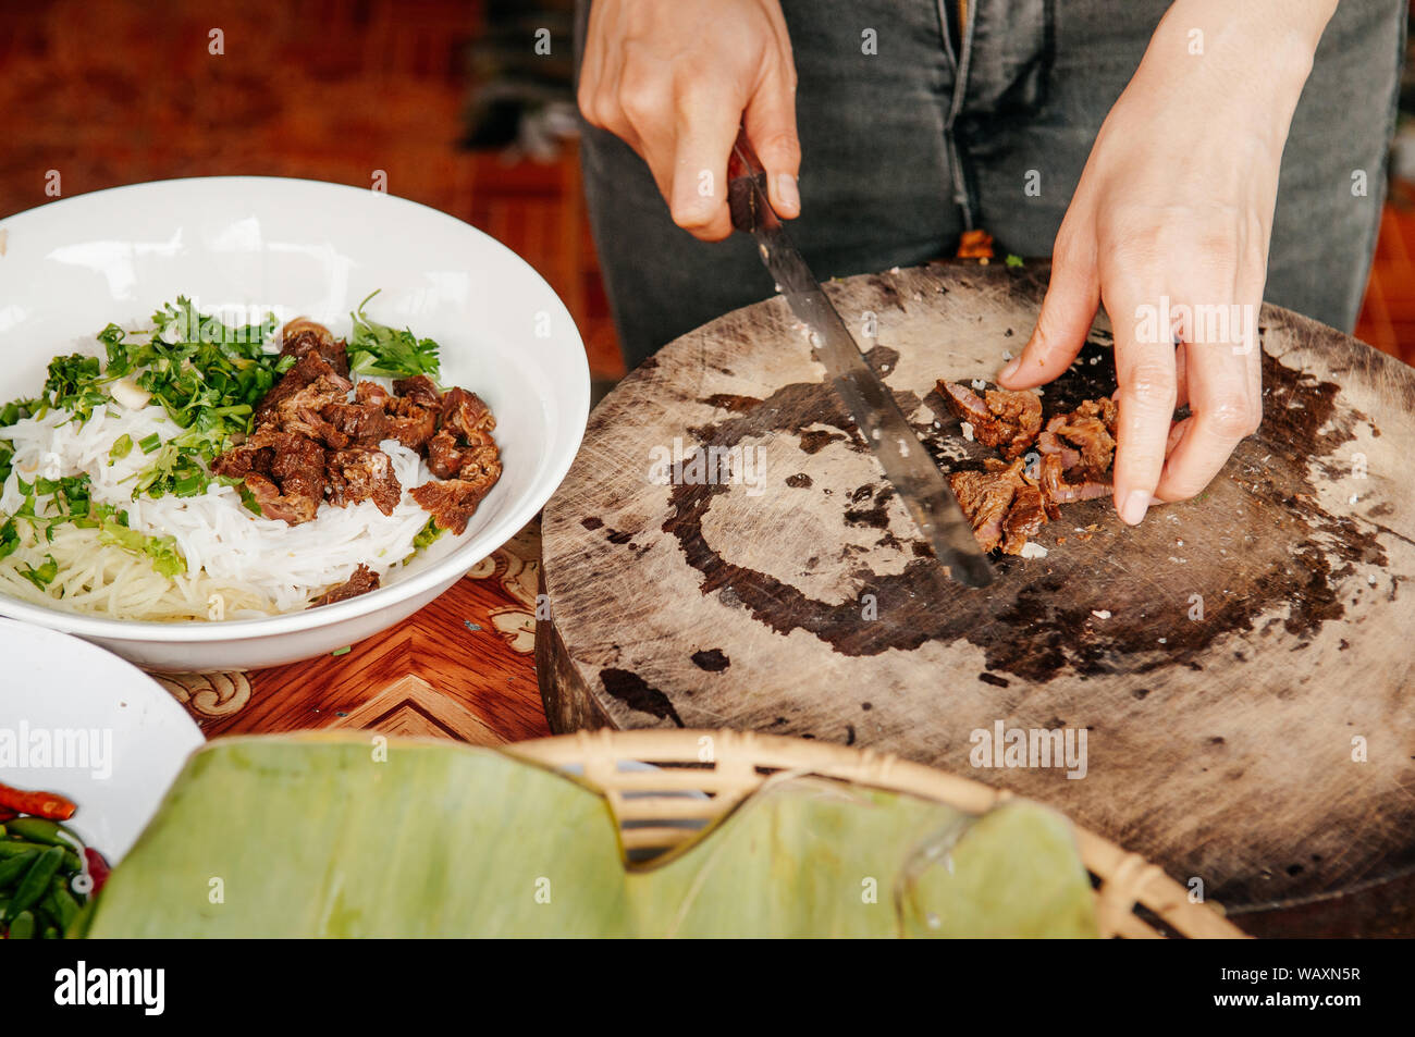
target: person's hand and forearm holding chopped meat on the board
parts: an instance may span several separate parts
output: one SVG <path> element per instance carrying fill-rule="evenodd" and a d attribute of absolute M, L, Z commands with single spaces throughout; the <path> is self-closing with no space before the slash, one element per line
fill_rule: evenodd
<path fill-rule="evenodd" d="M 1199 494 L 1262 417 L 1257 324 L 1278 170 L 1334 8 L 1169 8 L 1097 134 L 1037 327 L 998 376 L 1007 389 L 1060 376 L 1105 306 L 1119 385 L 1115 508 L 1131 525 L 1156 499 Z"/>

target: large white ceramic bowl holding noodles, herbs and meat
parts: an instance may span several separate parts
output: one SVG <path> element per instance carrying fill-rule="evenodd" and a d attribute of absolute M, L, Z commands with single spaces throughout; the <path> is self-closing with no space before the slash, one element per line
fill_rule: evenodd
<path fill-rule="evenodd" d="M 441 345 L 441 381 L 497 416 L 504 474 L 460 538 L 443 536 L 371 594 L 228 622 L 130 622 L 0 596 L 0 614 L 76 634 L 157 671 L 255 669 L 331 652 L 422 608 L 505 543 L 560 484 L 589 415 L 584 347 L 550 287 L 443 212 L 307 180 L 136 184 L 0 221 L 0 402 L 33 396 L 57 354 L 184 294 L 202 311 L 375 320 Z"/>

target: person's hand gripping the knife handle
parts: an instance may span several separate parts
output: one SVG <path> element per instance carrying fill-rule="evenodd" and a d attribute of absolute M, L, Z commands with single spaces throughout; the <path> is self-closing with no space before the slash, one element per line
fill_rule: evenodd
<path fill-rule="evenodd" d="M 777 215 L 801 212 L 795 65 L 777 0 L 594 0 L 579 103 L 591 126 L 638 151 L 674 222 L 703 241 L 732 233 L 739 124 Z"/>

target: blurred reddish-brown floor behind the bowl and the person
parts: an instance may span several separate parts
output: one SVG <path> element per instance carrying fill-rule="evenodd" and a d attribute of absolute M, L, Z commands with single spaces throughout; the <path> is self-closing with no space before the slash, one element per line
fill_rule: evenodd
<path fill-rule="evenodd" d="M 211 174 L 388 190 L 521 253 L 565 299 L 596 379 L 623 373 L 573 149 L 457 147 L 484 0 L 25 0 L 0 4 L 0 218 Z M 222 33 L 225 54 L 208 52 Z M 1415 191 L 1387 205 L 1357 335 L 1415 362 Z"/>

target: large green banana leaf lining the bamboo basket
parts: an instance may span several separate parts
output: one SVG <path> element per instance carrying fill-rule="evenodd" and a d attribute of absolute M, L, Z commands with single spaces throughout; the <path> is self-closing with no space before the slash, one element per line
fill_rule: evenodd
<path fill-rule="evenodd" d="M 1070 823 L 785 777 L 627 866 L 606 798 L 447 741 L 218 740 L 89 937 L 1094 937 Z"/>

